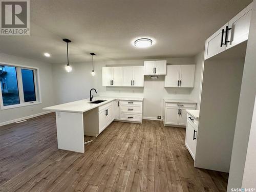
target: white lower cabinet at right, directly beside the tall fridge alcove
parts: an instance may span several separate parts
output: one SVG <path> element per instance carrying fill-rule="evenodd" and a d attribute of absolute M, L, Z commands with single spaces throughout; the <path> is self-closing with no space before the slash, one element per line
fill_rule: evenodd
<path fill-rule="evenodd" d="M 198 121 L 188 114 L 185 145 L 194 160 L 196 157 L 197 132 L 198 132 Z"/>

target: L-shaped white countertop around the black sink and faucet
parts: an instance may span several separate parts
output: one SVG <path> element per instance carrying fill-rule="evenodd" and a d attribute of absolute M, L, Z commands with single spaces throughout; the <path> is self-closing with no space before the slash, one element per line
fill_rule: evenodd
<path fill-rule="evenodd" d="M 49 106 L 47 108 L 43 108 L 43 110 L 83 113 L 83 112 L 92 110 L 94 108 L 97 108 L 98 106 L 101 106 L 103 104 L 109 103 L 114 100 L 143 101 L 143 98 L 102 97 L 102 96 L 100 96 L 100 97 L 94 97 L 92 99 L 92 101 L 96 101 L 96 100 L 106 100 L 106 101 L 98 103 L 98 104 L 92 104 L 92 103 L 89 103 L 90 99 L 82 99 L 82 100 L 73 101 L 73 102 L 69 102 L 69 103 L 63 103 L 63 104 L 58 104 L 58 105 L 54 105 L 54 106 Z"/>

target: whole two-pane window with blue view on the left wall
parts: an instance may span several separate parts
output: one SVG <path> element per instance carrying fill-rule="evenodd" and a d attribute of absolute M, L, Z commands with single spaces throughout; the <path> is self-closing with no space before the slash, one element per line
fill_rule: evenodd
<path fill-rule="evenodd" d="M 38 69 L 0 63 L 1 109 L 40 103 Z"/>

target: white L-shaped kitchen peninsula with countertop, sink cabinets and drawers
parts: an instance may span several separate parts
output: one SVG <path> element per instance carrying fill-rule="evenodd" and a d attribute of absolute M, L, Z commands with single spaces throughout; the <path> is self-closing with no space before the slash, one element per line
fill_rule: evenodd
<path fill-rule="evenodd" d="M 49 106 L 55 111 L 58 148 L 84 153 L 84 135 L 97 137 L 113 121 L 142 122 L 143 98 L 95 97 Z M 119 109 L 120 106 L 120 109 Z"/>

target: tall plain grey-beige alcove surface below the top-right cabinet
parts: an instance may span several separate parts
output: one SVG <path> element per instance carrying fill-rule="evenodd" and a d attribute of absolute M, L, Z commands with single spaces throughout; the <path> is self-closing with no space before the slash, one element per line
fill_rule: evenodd
<path fill-rule="evenodd" d="M 244 59 L 204 62 L 195 166 L 229 172 Z"/>

